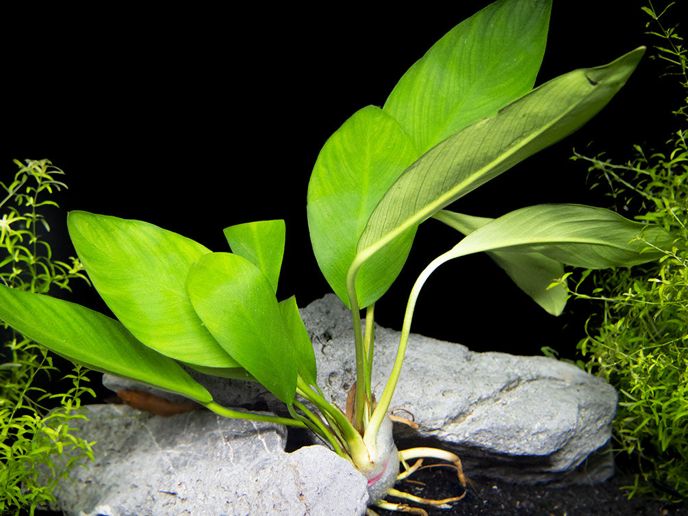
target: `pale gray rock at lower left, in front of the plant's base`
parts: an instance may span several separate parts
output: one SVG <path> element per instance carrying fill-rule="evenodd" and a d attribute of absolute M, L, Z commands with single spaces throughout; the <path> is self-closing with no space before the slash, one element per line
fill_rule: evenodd
<path fill-rule="evenodd" d="M 285 453 L 282 425 L 208 411 L 161 418 L 88 407 L 81 436 L 96 462 L 60 484 L 68 515 L 361 515 L 365 478 L 322 446 Z"/>

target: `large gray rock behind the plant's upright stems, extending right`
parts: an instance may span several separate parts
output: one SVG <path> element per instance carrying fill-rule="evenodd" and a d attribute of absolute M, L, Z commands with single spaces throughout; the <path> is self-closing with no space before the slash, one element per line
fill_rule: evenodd
<path fill-rule="evenodd" d="M 302 310 L 318 383 L 343 406 L 355 380 L 350 312 L 328 294 Z M 383 387 L 400 332 L 376 327 L 372 385 Z M 469 477 L 510 482 L 602 482 L 617 395 L 605 380 L 544 356 L 477 353 L 412 334 L 391 409 L 419 425 L 395 425 L 403 444 L 434 442 L 462 458 Z M 597 451 L 599 457 L 595 455 Z"/>

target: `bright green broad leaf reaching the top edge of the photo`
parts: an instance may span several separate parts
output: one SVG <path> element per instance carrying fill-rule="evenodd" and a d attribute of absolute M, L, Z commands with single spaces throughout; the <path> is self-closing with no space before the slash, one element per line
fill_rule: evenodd
<path fill-rule="evenodd" d="M 397 83 L 383 109 L 421 153 L 530 92 L 552 2 L 499 0 L 449 31 Z"/>

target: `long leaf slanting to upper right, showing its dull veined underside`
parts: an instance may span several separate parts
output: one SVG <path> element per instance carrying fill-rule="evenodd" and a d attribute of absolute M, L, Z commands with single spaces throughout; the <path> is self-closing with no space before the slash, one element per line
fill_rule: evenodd
<path fill-rule="evenodd" d="M 641 47 L 609 65 L 550 80 L 422 155 L 376 206 L 352 267 L 361 266 L 451 202 L 579 129 L 621 89 L 644 52 Z"/>

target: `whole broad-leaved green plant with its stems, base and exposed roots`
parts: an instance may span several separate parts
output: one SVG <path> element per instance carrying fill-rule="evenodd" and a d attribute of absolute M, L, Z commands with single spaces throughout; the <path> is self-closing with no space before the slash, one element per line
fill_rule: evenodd
<path fill-rule="evenodd" d="M 421 457 L 449 460 L 465 486 L 453 453 L 398 451 L 389 419 L 413 311 L 433 270 L 488 252 L 528 296 L 560 314 L 566 289 L 548 286 L 563 275 L 563 264 L 641 264 L 668 245 L 663 228 L 590 206 L 542 204 L 497 219 L 444 209 L 583 126 L 645 52 L 640 47 L 533 89 L 550 10 L 550 0 L 497 0 L 480 10 L 433 45 L 383 107 L 356 111 L 321 149 L 308 185 L 308 228 L 321 272 L 352 311 L 357 379 L 346 411 L 318 387 L 297 302 L 275 295 L 282 220 L 230 226 L 224 235 L 233 252 L 211 252 L 146 222 L 73 211 L 69 236 L 117 319 L 1 286 L 0 319 L 75 363 L 182 394 L 223 416 L 308 428 L 367 478 L 371 504 L 407 510 L 385 502 L 388 493 L 420 501 L 392 486 L 400 462 Z M 413 286 L 396 359 L 376 396 L 374 305 L 404 266 L 419 226 L 433 217 L 466 236 L 431 261 Z M 222 407 L 180 363 L 257 381 L 284 402 L 285 414 Z"/>

